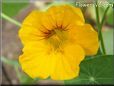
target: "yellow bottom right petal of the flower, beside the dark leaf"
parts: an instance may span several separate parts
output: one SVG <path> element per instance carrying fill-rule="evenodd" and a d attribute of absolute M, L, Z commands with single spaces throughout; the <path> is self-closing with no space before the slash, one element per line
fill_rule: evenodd
<path fill-rule="evenodd" d="M 63 53 L 57 53 L 57 63 L 51 78 L 54 80 L 73 79 L 79 75 L 79 64 L 84 59 L 83 49 L 78 45 L 66 45 Z"/>

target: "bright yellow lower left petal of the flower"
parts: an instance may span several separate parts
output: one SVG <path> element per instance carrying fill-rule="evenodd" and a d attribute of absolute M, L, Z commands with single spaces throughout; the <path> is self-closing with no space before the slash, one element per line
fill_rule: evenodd
<path fill-rule="evenodd" d="M 47 78 L 56 63 L 56 58 L 49 50 L 49 46 L 44 42 L 31 42 L 26 45 L 23 49 L 24 54 L 19 57 L 23 71 L 32 78 Z"/>

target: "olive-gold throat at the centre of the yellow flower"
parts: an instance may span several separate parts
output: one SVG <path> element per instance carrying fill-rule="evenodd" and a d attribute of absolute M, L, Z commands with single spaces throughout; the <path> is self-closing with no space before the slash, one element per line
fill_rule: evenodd
<path fill-rule="evenodd" d="M 54 30 L 49 31 L 47 40 L 54 49 L 58 49 L 67 40 L 67 31 L 61 28 L 55 28 Z"/>

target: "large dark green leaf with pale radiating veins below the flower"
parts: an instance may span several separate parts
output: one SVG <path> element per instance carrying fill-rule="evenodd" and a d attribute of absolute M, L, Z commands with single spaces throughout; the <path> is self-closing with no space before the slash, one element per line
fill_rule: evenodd
<path fill-rule="evenodd" d="M 80 64 L 77 78 L 66 80 L 65 84 L 113 84 L 114 55 L 96 56 L 85 59 Z"/>

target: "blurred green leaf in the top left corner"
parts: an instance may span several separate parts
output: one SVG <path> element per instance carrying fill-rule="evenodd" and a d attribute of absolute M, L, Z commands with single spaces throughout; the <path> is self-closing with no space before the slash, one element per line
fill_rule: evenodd
<path fill-rule="evenodd" d="M 2 12 L 6 15 L 13 17 L 15 16 L 22 8 L 26 7 L 28 3 L 2 3 Z"/>

